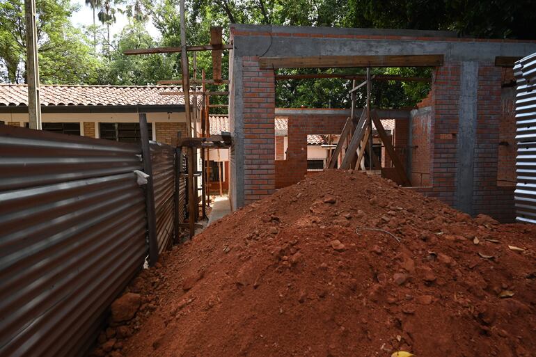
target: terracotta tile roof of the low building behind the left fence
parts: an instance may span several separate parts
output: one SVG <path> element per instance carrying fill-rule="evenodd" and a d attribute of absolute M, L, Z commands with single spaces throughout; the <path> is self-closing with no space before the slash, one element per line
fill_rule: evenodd
<path fill-rule="evenodd" d="M 184 95 L 161 95 L 168 91 L 182 91 L 180 86 L 40 86 L 42 106 L 92 106 L 92 105 L 173 105 L 184 104 Z M 190 103 L 194 98 L 191 97 Z M 198 95 L 197 104 L 203 103 Z M 27 106 L 26 84 L 0 84 L 0 106 Z"/>

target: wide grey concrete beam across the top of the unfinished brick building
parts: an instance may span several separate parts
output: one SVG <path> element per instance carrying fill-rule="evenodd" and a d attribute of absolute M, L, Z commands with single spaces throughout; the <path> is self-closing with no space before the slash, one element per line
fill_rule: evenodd
<path fill-rule="evenodd" d="M 426 36 L 420 31 L 416 33 L 412 31 L 412 34 L 407 34 L 406 31 L 392 33 L 392 35 L 409 37 L 400 39 L 322 38 L 320 36 L 281 36 L 278 33 L 374 36 L 376 32 L 364 29 L 326 29 L 299 26 L 234 26 L 237 31 L 249 31 L 249 35 L 235 35 L 233 40 L 235 56 L 317 57 L 363 54 L 368 56 L 444 54 L 446 63 L 475 61 L 494 64 L 497 56 L 523 57 L 536 52 L 536 42 L 460 41 L 458 38 L 436 37 L 433 36 L 433 33 Z M 259 34 L 256 35 L 256 33 Z"/>

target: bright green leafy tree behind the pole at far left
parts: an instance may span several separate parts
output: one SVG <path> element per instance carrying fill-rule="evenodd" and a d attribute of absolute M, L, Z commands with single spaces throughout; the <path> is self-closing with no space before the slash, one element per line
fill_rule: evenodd
<path fill-rule="evenodd" d="M 93 83 L 100 63 L 86 36 L 70 23 L 69 0 L 38 0 L 37 39 L 42 83 Z M 26 59 L 24 1 L 0 3 L 0 61 L 6 70 L 1 81 L 23 83 Z"/>

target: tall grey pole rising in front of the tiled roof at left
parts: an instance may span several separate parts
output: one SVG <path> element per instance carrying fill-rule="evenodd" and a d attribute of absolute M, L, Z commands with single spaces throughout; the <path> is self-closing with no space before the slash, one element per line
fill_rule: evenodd
<path fill-rule="evenodd" d="M 36 0 L 24 0 L 26 19 L 26 83 L 30 129 L 42 129 L 39 100 L 39 61 L 37 49 Z"/>

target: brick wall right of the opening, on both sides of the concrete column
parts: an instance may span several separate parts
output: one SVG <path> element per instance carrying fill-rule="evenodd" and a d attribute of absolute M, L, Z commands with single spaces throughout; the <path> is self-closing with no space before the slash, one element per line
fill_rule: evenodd
<path fill-rule="evenodd" d="M 412 152 L 412 184 L 431 186 L 419 191 L 449 205 L 457 204 L 459 76 L 459 65 L 436 69 L 433 90 L 420 104 L 419 111 L 413 112 L 412 137 L 417 148 Z M 501 150 L 498 143 L 503 139 L 514 140 L 509 117 L 512 113 L 509 114 L 511 109 L 505 104 L 513 100 L 514 92 L 501 93 L 501 81 L 500 68 L 479 65 L 472 206 L 474 214 L 488 214 L 511 222 L 514 220 L 514 187 L 499 186 L 497 178 Z M 429 109 L 423 107 L 426 104 Z M 501 125 L 509 128 L 508 133 L 501 131 Z M 512 170 L 512 167 L 505 168 L 500 175 L 514 175 Z"/>

